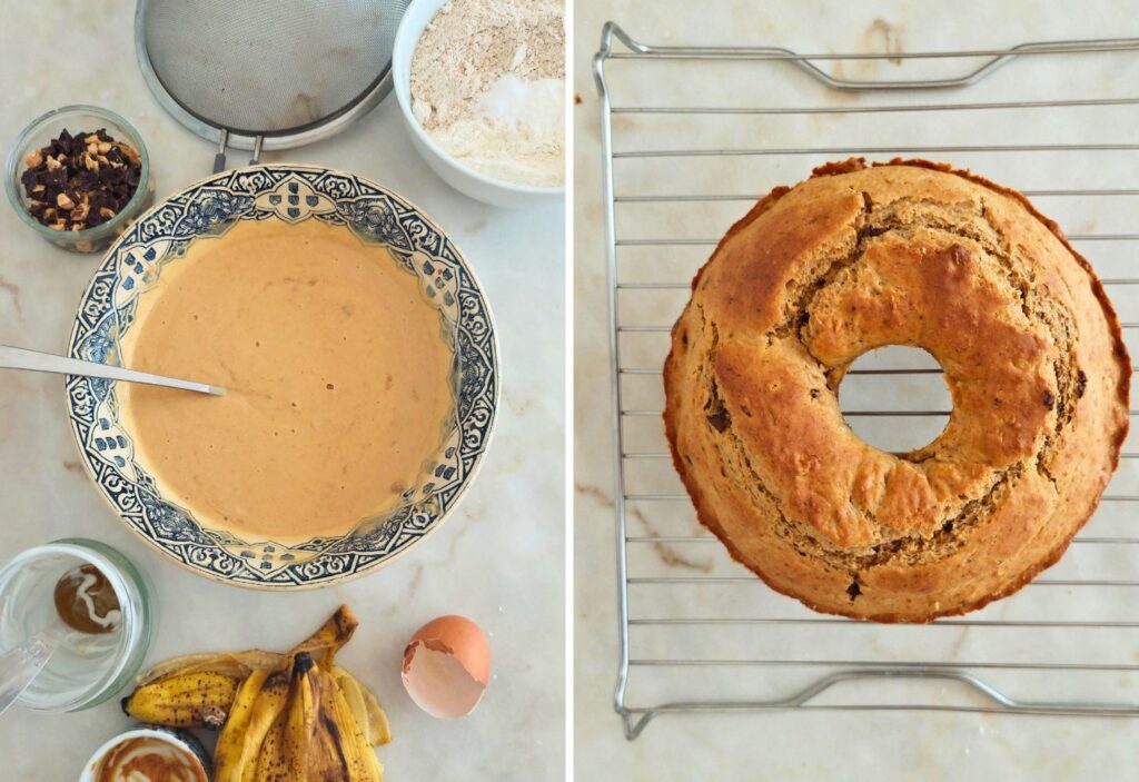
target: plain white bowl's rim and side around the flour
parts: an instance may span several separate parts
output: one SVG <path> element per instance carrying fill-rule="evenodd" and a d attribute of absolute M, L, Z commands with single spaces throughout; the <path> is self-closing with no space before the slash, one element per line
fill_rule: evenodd
<path fill-rule="evenodd" d="M 547 204 L 565 197 L 565 188 L 535 188 L 493 179 L 468 168 L 454 160 L 419 125 L 411 113 L 411 57 L 424 28 L 435 13 L 449 0 L 415 0 L 403 14 L 403 20 L 395 33 L 395 49 L 392 52 L 392 76 L 395 82 L 395 98 L 403 113 L 403 120 L 411 133 L 419 155 L 427 165 L 452 188 L 476 200 L 495 206 L 532 206 Z"/>

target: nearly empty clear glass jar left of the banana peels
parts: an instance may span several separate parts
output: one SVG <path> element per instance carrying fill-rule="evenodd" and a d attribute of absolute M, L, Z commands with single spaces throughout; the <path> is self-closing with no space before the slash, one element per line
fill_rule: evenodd
<path fill-rule="evenodd" d="M 64 624 L 55 591 L 72 568 L 91 565 L 107 578 L 120 620 L 108 633 L 83 633 Z M 42 711 L 79 711 L 107 700 L 134 678 L 154 634 L 153 587 L 125 557 L 83 538 L 46 543 L 0 568 L 0 649 L 16 649 L 42 634 L 55 650 L 16 701 Z"/>

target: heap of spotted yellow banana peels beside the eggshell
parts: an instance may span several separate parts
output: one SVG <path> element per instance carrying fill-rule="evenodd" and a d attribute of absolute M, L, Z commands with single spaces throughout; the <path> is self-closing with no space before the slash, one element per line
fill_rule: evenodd
<path fill-rule="evenodd" d="M 335 665 L 357 624 L 342 606 L 287 655 L 169 660 L 144 674 L 123 710 L 158 725 L 221 729 L 215 782 L 379 782 L 372 747 L 391 740 L 387 717 L 375 695 Z"/>

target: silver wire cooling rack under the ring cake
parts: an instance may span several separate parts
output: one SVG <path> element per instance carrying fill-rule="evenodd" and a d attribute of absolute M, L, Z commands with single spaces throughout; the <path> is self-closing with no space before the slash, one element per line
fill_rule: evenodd
<path fill-rule="evenodd" d="M 1132 442 L 1095 518 L 1030 586 L 966 617 L 880 626 L 812 614 L 735 565 L 696 522 L 659 418 L 669 329 L 718 238 L 773 186 L 851 156 L 947 160 L 1026 192 L 1091 258 L 1136 355 L 1139 39 L 798 55 L 647 46 L 609 23 L 595 76 L 626 736 L 691 711 L 1139 715 Z M 847 422 L 886 450 L 932 441 L 951 405 L 936 363 L 904 348 L 860 360 L 842 392 Z"/>

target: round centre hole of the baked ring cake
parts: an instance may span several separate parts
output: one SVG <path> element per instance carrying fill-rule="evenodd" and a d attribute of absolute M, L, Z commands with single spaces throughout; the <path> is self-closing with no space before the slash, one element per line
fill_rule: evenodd
<path fill-rule="evenodd" d="M 935 441 L 953 409 L 936 359 L 903 345 L 859 356 L 843 378 L 839 402 L 851 429 L 891 453 L 909 453 Z"/>

